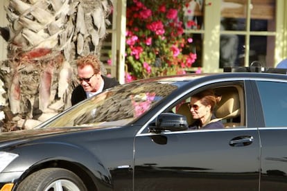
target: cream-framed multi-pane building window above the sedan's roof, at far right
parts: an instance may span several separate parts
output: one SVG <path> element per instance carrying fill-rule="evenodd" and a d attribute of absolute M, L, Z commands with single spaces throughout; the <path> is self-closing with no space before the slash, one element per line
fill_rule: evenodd
<path fill-rule="evenodd" d="M 264 11 L 262 11 L 264 10 Z M 220 68 L 266 66 L 275 55 L 275 0 L 225 0 L 220 5 Z"/>

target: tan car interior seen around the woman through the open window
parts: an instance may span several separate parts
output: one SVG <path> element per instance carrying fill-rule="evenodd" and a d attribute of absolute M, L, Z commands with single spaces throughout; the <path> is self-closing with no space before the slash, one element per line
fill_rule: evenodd
<path fill-rule="evenodd" d="M 243 89 L 240 86 L 228 86 L 228 87 L 216 87 L 214 89 L 217 96 L 221 97 L 220 102 L 214 109 L 214 115 L 216 118 L 220 118 L 225 128 L 244 127 L 244 94 Z M 189 125 L 193 123 L 191 113 L 188 107 L 189 100 L 180 104 L 177 109 L 177 113 L 186 116 L 186 120 Z"/>

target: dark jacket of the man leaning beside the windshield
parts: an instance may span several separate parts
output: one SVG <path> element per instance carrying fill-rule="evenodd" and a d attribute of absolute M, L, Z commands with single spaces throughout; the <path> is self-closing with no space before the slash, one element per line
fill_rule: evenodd
<path fill-rule="evenodd" d="M 106 76 L 102 75 L 103 81 L 104 81 L 104 87 L 103 90 L 115 87 L 116 85 L 119 85 L 119 82 L 116 81 L 116 78 L 107 78 Z M 71 95 L 71 104 L 77 104 L 78 102 L 87 99 L 87 95 L 85 90 L 82 88 L 82 86 L 79 84 L 75 89 L 73 89 L 73 93 Z"/>

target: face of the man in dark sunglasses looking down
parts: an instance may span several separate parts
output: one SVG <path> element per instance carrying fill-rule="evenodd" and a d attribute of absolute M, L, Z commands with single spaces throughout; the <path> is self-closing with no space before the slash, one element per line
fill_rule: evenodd
<path fill-rule="evenodd" d="M 90 65 L 78 67 L 78 79 L 85 91 L 95 92 L 101 87 L 101 72 L 94 73 Z"/>

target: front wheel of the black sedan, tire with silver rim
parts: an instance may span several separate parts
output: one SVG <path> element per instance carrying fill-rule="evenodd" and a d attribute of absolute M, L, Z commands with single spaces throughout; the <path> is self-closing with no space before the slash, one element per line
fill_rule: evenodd
<path fill-rule="evenodd" d="M 73 172 L 62 168 L 46 168 L 29 175 L 21 181 L 17 190 L 48 191 L 75 190 L 86 191 L 82 180 Z"/>

